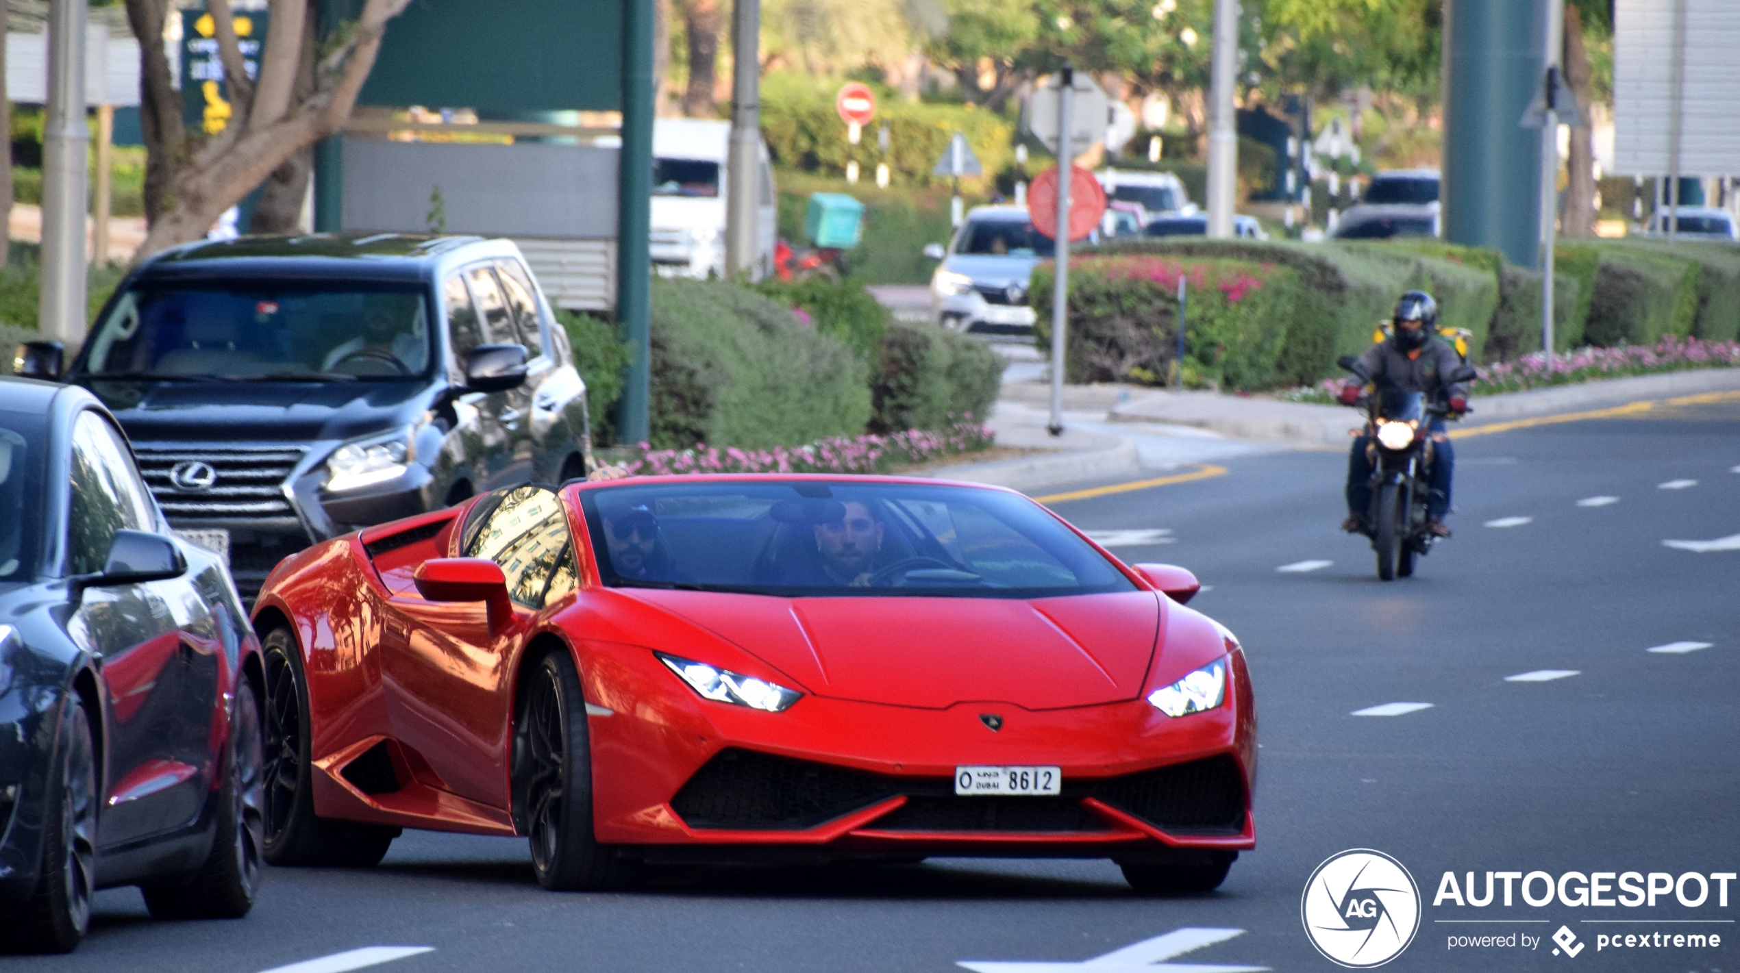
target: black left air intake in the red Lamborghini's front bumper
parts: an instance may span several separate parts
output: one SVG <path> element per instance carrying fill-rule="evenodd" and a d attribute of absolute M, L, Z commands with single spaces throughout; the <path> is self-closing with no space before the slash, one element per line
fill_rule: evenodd
<path fill-rule="evenodd" d="M 863 771 L 722 750 L 706 761 L 670 806 L 694 829 L 811 829 L 898 794 Z"/>

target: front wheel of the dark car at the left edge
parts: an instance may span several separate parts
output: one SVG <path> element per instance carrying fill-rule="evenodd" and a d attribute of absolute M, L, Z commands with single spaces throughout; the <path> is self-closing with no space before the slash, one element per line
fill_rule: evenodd
<path fill-rule="evenodd" d="M 90 717 L 75 695 L 66 700 L 59 773 L 49 785 L 37 889 L 23 909 L 0 919 L 0 942 L 21 952 L 71 952 L 90 929 L 96 889 L 97 761 Z"/>

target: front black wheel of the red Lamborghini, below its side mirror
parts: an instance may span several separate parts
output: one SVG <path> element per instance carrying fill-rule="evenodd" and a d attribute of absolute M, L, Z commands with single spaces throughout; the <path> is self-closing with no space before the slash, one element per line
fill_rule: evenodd
<path fill-rule="evenodd" d="M 599 844 L 592 832 L 586 700 L 566 651 L 548 653 L 532 667 L 515 721 L 513 778 L 538 884 L 585 891 L 633 882 L 639 862 L 626 849 Z"/>

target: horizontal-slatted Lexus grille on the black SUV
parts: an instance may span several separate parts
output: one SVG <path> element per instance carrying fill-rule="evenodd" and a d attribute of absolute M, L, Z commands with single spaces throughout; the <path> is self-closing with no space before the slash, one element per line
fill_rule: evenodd
<path fill-rule="evenodd" d="M 139 472 L 171 520 L 270 520 L 296 517 L 284 482 L 306 453 L 301 446 L 136 446 Z M 209 487 L 177 486 L 174 470 L 204 463 L 216 479 Z"/>

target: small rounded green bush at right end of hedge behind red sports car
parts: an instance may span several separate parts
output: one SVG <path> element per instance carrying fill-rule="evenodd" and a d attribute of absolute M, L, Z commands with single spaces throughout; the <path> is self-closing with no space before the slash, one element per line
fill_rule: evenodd
<path fill-rule="evenodd" d="M 889 322 L 870 386 L 870 432 L 983 421 L 1000 383 L 1002 359 L 983 341 L 934 324 Z"/>

